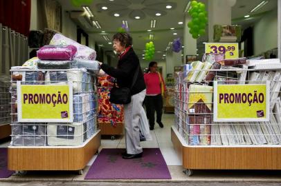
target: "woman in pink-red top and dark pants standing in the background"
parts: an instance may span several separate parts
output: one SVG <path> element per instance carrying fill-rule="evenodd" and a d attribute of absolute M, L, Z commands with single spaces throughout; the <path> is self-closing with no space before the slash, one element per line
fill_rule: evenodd
<path fill-rule="evenodd" d="M 145 107 L 149 120 L 149 129 L 154 130 L 154 113 L 156 111 L 156 122 L 163 128 L 161 121 L 163 110 L 163 94 L 166 92 L 165 82 L 162 75 L 157 72 L 157 62 L 149 63 L 147 73 L 144 74 L 146 85 Z"/>

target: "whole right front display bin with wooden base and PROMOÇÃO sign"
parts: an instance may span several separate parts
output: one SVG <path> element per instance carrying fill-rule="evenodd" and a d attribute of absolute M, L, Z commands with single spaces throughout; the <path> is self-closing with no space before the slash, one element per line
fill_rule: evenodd
<path fill-rule="evenodd" d="M 203 78 L 197 81 L 200 73 Z M 246 65 L 219 65 L 216 69 L 213 64 L 209 70 L 180 72 L 171 140 L 185 174 L 191 176 L 195 169 L 281 169 L 280 87 L 281 69 L 272 66 L 248 69 Z M 239 102 L 238 92 L 249 89 L 253 94 L 265 91 L 259 105 L 262 115 L 259 110 L 254 116 L 256 101 L 245 111 L 245 105 L 241 105 L 245 99 Z M 237 105 L 227 106 L 230 99 L 225 101 L 224 91 L 238 95 L 237 102 L 231 99 Z"/>

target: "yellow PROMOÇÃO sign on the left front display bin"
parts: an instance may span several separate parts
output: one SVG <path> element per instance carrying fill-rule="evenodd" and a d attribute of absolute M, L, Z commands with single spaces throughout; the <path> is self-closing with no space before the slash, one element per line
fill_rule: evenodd
<path fill-rule="evenodd" d="M 17 82 L 19 122 L 73 122 L 72 84 L 21 85 Z"/>

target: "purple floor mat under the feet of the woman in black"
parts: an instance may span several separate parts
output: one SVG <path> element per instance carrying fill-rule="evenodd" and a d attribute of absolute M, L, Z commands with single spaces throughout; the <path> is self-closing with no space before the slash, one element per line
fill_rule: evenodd
<path fill-rule="evenodd" d="M 143 149 L 143 157 L 123 159 L 125 149 L 102 149 L 85 179 L 171 179 L 158 148 Z"/>

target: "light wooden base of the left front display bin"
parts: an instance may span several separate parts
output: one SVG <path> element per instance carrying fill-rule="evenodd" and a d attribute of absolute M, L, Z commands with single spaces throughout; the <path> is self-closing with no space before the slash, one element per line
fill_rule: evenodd
<path fill-rule="evenodd" d="M 98 152 L 100 130 L 81 146 L 8 147 L 8 169 L 82 170 Z"/>

